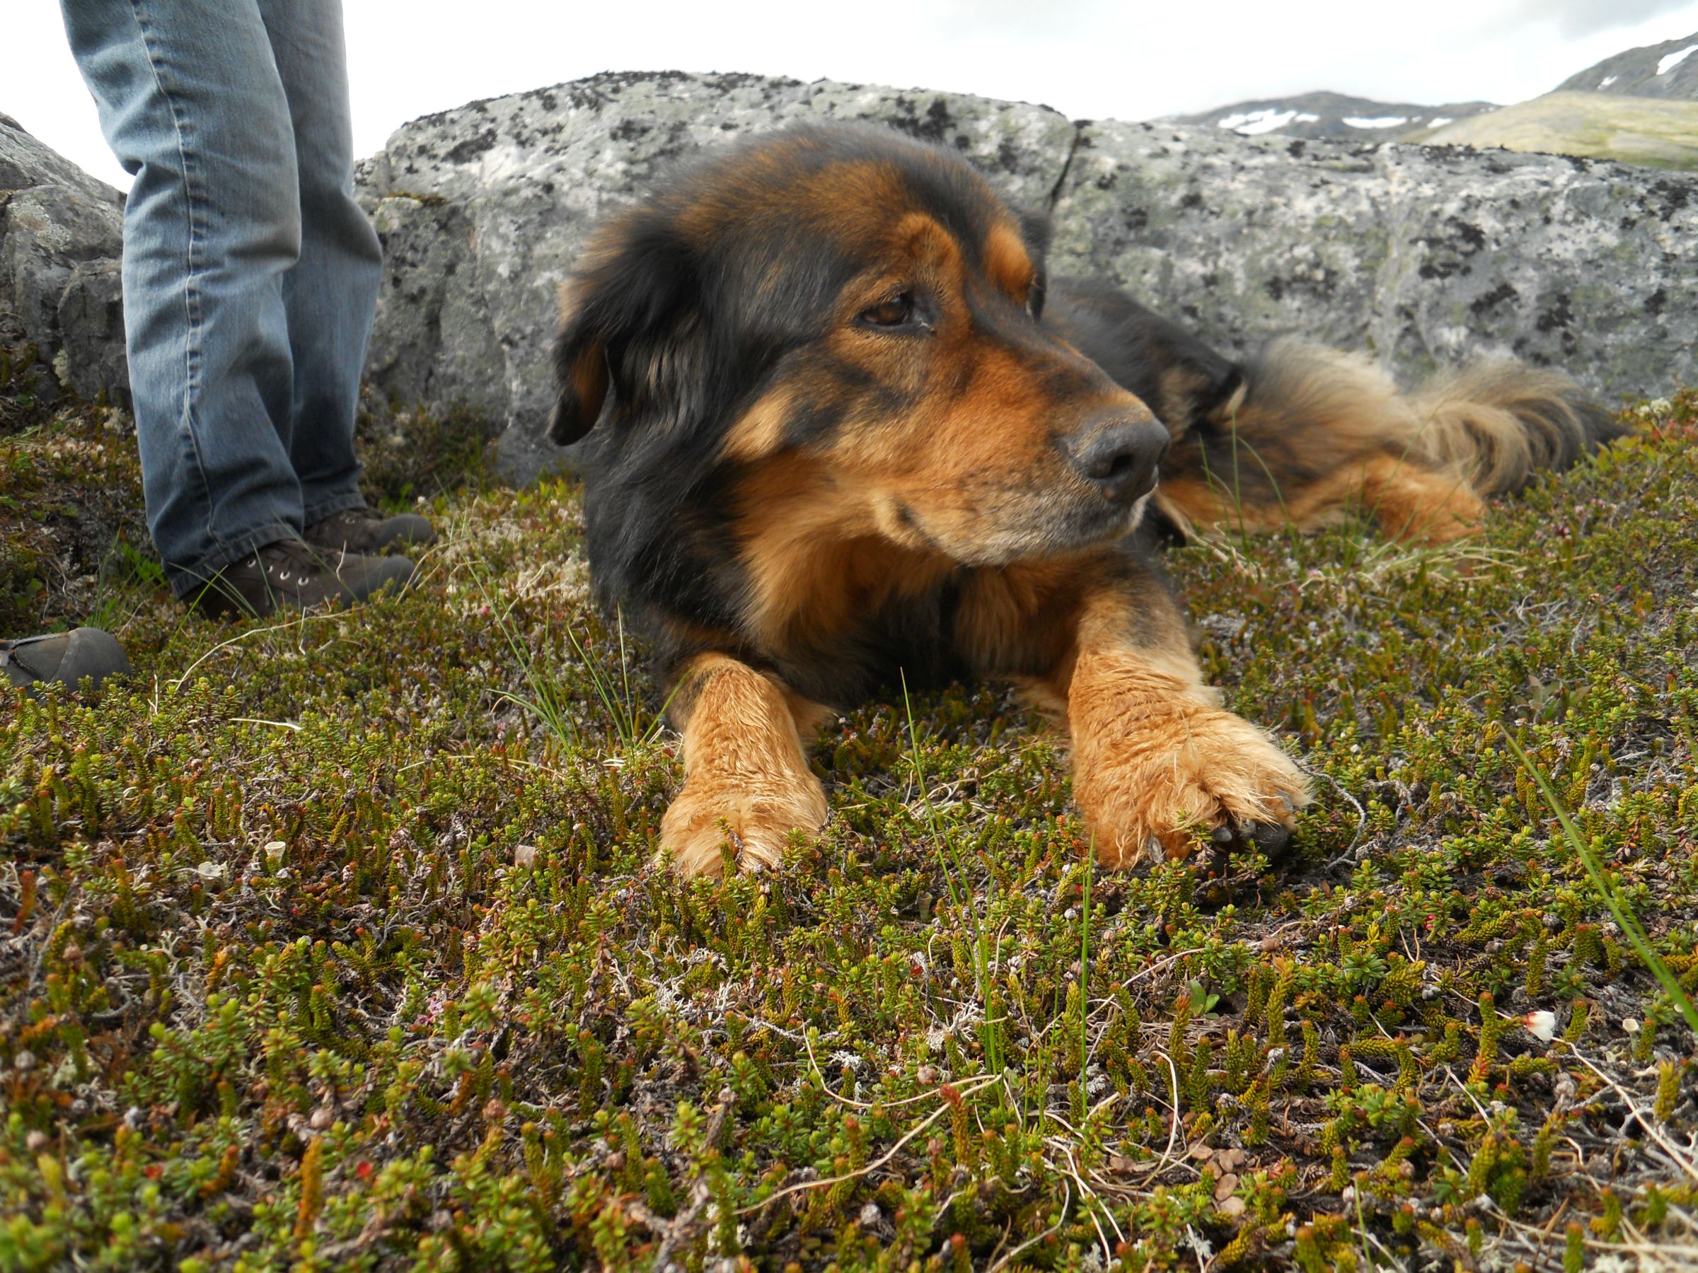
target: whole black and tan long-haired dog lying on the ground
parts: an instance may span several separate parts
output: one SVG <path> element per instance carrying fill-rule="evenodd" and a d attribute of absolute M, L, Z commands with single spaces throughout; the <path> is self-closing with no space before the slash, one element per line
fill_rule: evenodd
<path fill-rule="evenodd" d="M 1296 764 L 1202 682 L 1155 530 L 1467 533 L 1608 418 L 1493 363 L 1403 395 L 1275 341 L 1234 363 L 1121 292 L 1049 278 L 1044 224 L 873 127 L 711 153 L 594 234 L 564 290 L 555 441 L 589 435 L 598 594 L 655 638 L 684 874 L 825 820 L 807 738 L 898 679 L 1058 708 L 1104 864 L 1274 838 Z M 1160 489 L 1156 477 L 1161 477 Z"/>

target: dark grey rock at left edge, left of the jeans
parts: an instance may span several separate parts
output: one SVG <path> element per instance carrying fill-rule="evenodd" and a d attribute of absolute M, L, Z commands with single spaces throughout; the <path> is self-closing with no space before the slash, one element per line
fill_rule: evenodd
<path fill-rule="evenodd" d="M 0 326 L 83 397 L 129 390 L 122 250 L 124 197 L 0 115 Z"/>

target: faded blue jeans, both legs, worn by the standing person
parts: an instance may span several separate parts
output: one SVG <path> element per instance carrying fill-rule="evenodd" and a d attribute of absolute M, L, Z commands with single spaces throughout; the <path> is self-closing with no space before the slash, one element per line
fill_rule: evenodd
<path fill-rule="evenodd" d="M 136 178 L 124 328 L 148 528 L 178 596 L 363 506 L 382 248 L 353 202 L 341 0 L 63 0 Z"/>

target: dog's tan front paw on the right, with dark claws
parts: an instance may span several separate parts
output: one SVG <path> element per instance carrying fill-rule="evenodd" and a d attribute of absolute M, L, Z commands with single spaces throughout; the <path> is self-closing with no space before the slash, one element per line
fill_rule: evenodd
<path fill-rule="evenodd" d="M 1217 845 L 1284 847 L 1309 801 L 1302 771 L 1250 721 L 1199 704 L 1075 747 L 1073 796 L 1107 867 Z"/>

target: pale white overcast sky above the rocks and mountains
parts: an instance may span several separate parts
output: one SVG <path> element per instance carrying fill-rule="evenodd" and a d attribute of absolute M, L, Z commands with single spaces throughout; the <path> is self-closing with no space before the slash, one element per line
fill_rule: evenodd
<path fill-rule="evenodd" d="M 345 0 L 355 149 L 408 119 L 603 70 L 757 71 L 1150 119 L 1314 88 L 1520 102 L 1601 58 L 1698 32 L 1698 0 Z M 127 183 L 58 5 L 7 0 L 0 112 Z M 22 10 L 22 12 L 20 12 Z"/>

